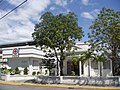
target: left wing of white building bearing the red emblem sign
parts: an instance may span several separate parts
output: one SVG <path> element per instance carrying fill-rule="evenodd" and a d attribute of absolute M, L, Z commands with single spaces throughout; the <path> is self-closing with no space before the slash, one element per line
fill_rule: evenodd
<path fill-rule="evenodd" d="M 33 72 L 42 72 L 44 74 L 45 70 L 47 70 L 40 66 L 45 55 L 44 52 L 36 48 L 35 45 L 30 45 L 30 42 L 1 45 L 1 47 L 0 68 L 15 69 L 18 67 L 23 71 L 27 67 L 29 75 L 32 75 Z"/>

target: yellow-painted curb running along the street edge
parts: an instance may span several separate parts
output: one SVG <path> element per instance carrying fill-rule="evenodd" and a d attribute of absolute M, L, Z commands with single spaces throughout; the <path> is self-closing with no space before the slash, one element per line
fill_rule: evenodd
<path fill-rule="evenodd" d="M 49 84 L 28 84 L 2 81 L 0 84 L 16 85 L 16 86 L 36 86 L 48 88 L 67 88 L 67 89 L 87 89 L 87 90 L 120 90 L 116 87 L 95 87 L 95 86 L 70 86 L 70 85 L 49 85 Z"/>

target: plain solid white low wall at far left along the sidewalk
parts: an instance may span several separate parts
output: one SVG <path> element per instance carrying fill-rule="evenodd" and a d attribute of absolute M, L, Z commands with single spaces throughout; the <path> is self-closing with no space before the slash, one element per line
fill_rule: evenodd
<path fill-rule="evenodd" d="M 32 75 L 1 75 L 0 79 L 4 81 L 22 81 L 34 79 L 35 76 Z"/>

